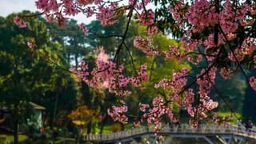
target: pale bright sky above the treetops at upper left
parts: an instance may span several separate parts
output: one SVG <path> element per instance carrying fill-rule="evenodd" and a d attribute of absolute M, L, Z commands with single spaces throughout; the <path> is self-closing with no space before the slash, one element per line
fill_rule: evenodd
<path fill-rule="evenodd" d="M 6 17 L 11 13 L 18 13 L 22 10 L 30 10 L 32 12 L 37 10 L 35 6 L 35 0 L 0 0 L 0 16 Z M 78 21 L 78 23 L 89 24 L 95 18 L 86 18 L 83 14 L 78 14 L 72 17 Z"/>

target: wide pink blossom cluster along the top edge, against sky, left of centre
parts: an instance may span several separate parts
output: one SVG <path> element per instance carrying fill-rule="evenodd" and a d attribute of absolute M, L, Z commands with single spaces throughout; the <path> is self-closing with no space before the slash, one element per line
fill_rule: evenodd
<path fill-rule="evenodd" d="M 65 22 L 63 19 L 67 18 L 64 18 L 64 15 L 83 13 L 91 17 L 95 14 L 102 26 L 114 24 L 114 10 L 117 8 L 116 2 L 106 5 L 102 0 L 37 0 L 36 6 L 46 14 L 46 18 L 50 21 L 58 19 L 58 21 Z"/>

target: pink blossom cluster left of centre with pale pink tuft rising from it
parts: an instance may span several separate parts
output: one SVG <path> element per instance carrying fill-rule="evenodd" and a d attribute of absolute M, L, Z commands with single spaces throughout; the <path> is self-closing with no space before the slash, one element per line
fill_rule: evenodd
<path fill-rule="evenodd" d="M 146 73 L 146 65 L 140 66 L 137 70 L 137 75 L 133 77 L 126 77 L 122 74 L 124 66 L 117 66 L 115 62 L 109 61 L 108 54 L 102 47 L 98 48 L 96 55 L 96 67 L 89 72 L 86 62 L 81 62 L 81 70 L 75 71 L 78 77 L 82 78 L 89 86 L 96 90 L 109 90 L 121 96 L 128 96 L 131 94 L 127 90 L 127 86 L 131 83 L 133 86 L 141 86 L 142 82 L 148 81 L 148 74 Z"/>

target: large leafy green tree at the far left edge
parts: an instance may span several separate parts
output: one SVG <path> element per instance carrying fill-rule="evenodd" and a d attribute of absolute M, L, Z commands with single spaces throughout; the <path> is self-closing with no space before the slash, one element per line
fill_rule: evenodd
<path fill-rule="evenodd" d="M 68 70 L 69 66 L 62 60 L 61 45 L 51 41 L 45 23 L 37 18 L 27 18 L 27 27 L 19 28 L 13 18 L 14 14 L 0 18 L 0 102 L 1 106 L 10 109 L 14 119 L 21 120 L 33 112 L 30 101 L 49 108 L 54 103 L 52 96 L 70 89 L 68 85 L 74 80 L 59 68 Z M 27 42 L 34 43 L 34 50 L 27 46 Z M 67 98 L 66 103 L 72 106 L 75 96 L 74 92 L 63 99 Z"/>

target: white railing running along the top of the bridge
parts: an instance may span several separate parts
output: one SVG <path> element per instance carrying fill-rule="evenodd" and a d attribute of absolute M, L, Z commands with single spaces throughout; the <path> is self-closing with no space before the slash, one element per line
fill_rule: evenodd
<path fill-rule="evenodd" d="M 130 138 L 144 134 L 154 134 L 154 127 L 141 127 L 131 130 L 118 131 L 112 134 L 87 134 L 84 136 L 85 141 L 112 141 L 118 139 Z M 246 130 L 244 126 L 217 126 L 202 125 L 198 128 L 191 127 L 187 124 L 179 126 L 166 125 L 158 134 L 235 134 L 243 138 L 256 139 L 256 130 Z"/>

